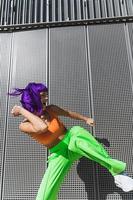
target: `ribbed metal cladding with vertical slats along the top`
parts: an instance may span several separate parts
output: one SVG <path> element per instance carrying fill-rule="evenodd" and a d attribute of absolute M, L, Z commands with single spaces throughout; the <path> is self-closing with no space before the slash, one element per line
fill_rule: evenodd
<path fill-rule="evenodd" d="M 132 0 L 0 0 L 1 25 L 132 15 Z"/>

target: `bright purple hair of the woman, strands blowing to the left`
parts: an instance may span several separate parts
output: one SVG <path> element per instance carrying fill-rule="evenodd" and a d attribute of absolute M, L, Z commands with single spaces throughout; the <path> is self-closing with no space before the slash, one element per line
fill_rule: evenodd
<path fill-rule="evenodd" d="M 13 88 L 15 91 L 8 93 L 11 96 L 21 95 L 21 104 L 26 110 L 41 115 L 43 106 L 41 103 L 40 92 L 48 92 L 48 88 L 42 83 L 29 83 L 24 89 Z"/>

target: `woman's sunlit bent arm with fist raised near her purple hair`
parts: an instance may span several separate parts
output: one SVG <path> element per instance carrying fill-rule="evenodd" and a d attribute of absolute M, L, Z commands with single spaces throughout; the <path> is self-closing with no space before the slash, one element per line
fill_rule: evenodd
<path fill-rule="evenodd" d="M 11 113 L 14 116 L 23 115 L 29 121 L 20 124 L 19 128 L 23 132 L 42 133 L 48 128 L 47 124 L 41 118 L 21 106 L 14 106 Z"/>

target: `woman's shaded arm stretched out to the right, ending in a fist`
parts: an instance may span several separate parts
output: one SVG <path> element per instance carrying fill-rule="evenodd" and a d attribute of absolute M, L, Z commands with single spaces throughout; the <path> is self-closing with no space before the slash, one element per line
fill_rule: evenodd
<path fill-rule="evenodd" d="M 92 125 L 92 124 L 94 125 L 94 121 L 92 118 L 88 118 L 79 113 L 76 113 L 76 112 L 73 112 L 70 110 L 66 110 L 64 108 L 60 108 L 53 104 L 49 105 L 48 108 L 51 109 L 51 111 L 55 112 L 56 115 L 58 115 L 58 116 L 65 116 L 65 117 L 70 117 L 70 118 L 77 119 L 77 120 L 83 120 L 84 122 L 86 122 L 89 125 Z"/>

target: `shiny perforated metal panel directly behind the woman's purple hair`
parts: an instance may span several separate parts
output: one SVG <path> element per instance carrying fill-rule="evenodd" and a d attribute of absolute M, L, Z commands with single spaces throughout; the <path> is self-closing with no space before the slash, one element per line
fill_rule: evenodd
<path fill-rule="evenodd" d="M 10 89 L 23 88 L 28 82 L 46 82 L 47 30 L 13 34 L 12 40 Z M 22 117 L 10 114 L 15 104 L 19 104 L 19 97 L 9 101 L 3 199 L 35 199 L 46 169 L 47 152 L 18 130 Z"/>

